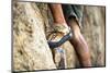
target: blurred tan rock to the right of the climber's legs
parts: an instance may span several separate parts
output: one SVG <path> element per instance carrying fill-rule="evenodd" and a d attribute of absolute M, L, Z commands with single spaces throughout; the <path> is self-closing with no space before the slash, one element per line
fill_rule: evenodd
<path fill-rule="evenodd" d="M 85 7 L 82 34 L 88 42 L 94 66 L 105 64 L 106 12 L 103 7 Z"/>

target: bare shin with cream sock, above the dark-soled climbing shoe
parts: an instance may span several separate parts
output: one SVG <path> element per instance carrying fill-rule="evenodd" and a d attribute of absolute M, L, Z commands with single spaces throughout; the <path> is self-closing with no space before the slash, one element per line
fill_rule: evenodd
<path fill-rule="evenodd" d="M 54 19 L 54 28 L 58 32 L 67 34 L 69 31 L 63 14 L 62 4 L 48 4 L 48 7 Z"/>

